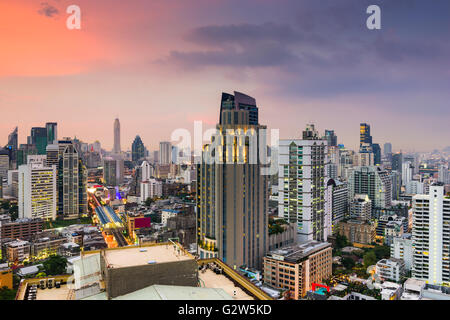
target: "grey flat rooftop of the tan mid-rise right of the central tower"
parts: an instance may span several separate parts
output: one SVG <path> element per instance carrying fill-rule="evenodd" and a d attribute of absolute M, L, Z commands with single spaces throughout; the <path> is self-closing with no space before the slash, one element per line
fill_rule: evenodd
<path fill-rule="evenodd" d="M 329 242 L 308 241 L 294 246 L 276 249 L 267 254 L 268 257 L 288 262 L 298 262 L 320 250 L 331 247 Z"/>

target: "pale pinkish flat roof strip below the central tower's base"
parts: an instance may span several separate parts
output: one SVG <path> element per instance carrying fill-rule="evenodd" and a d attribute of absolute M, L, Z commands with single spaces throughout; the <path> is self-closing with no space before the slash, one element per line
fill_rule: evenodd
<path fill-rule="evenodd" d="M 210 269 L 198 272 L 200 285 L 204 288 L 223 289 L 234 300 L 254 300 L 240 287 L 236 287 L 234 283 L 224 274 L 216 274 Z"/>

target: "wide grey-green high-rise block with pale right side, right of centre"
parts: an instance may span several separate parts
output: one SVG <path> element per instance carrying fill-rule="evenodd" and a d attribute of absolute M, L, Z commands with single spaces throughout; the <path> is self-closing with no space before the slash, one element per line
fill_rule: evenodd
<path fill-rule="evenodd" d="M 379 167 L 354 167 L 349 177 L 349 200 L 357 194 L 368 195 L 372 201 L 372 210 L 386 209 L 391 206 L 391 176 Z"/>

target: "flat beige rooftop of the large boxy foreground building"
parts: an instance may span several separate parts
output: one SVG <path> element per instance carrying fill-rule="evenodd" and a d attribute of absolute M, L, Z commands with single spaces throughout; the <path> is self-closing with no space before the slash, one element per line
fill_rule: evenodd
<path fill-rule="evenodd" d="M 183 252 L 178 246 L 156 245 L 149 247 L 125 247 L 105 250 L 105 260 L 108 267 L 124 268 L 154 263 L 194 260 L 191 255 Z"/>

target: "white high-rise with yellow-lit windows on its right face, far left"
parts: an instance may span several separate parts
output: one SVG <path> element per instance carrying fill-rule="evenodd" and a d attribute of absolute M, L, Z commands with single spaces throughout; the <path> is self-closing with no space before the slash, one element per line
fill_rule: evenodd
<path fill-rule="evenodd" d="M 56 219 L 56 166 L 46 166 L 46 156 L 29 156 L 19 166 L 19 218 Z"/>

